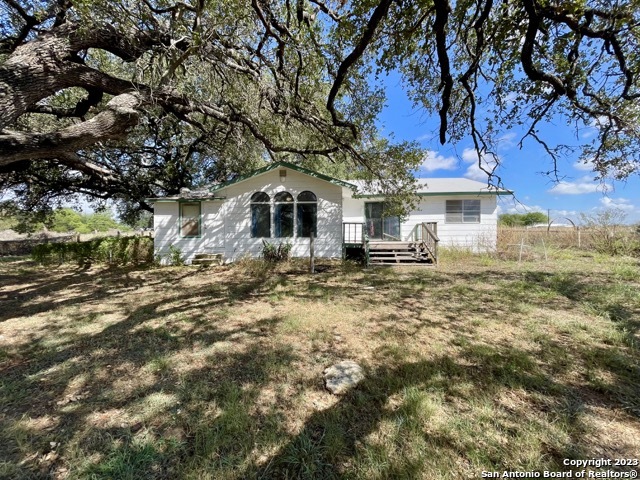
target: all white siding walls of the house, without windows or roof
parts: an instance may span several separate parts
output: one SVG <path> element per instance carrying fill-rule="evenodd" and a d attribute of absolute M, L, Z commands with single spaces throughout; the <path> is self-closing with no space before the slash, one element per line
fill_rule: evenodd
<path fill-rule="evenodd" d="M 282 168 L 284 169 L 284 168 Z M 294 199 L 309 190 L 318 198 L 318 237 L 315 251 L 318 257 L 340 257 L 342 254 L 342 222 L 364 222 L 364 204 L 379 199 L 353 198 L 348 188 L 286 169 L 287 177 L 280 181 L 281 169 L 251 177 L 219 190 L 216 196 L 224 200 L 203 201 L 201 204 L 202 235 L 200 238 L 179 236 L 179 203 L 157 202 L 154 205 L 154 230 L 156 253 L 167 255 L 169 247 L 179 248 L 187 263 L 196 253 L 223 253 L 226 261 L 244 256 L 259 257 L 263 249 L 262 238 L 251 238 L 251 196 L 265 192 L 273 200 L 278 192 L 287 191 Z M 474 251 L 490 251 L 496 248 L 497 211 L 496 196 L 436 195 L 421 197 L 421 201 L 401 225 L 404 240 L 413 238 L 417 224 L 437 222 L 442 246 L 458 246 Z M 445 222 L 447 200 L 481 200 L 481 222 L 472 224 L 448 224 Z M 297 208 L 297 207 L 296 207 Z M 273 217 L 273 206 L 271 208 Z M 294 218 L 297 216 L 294 215 Z M 297 218 L 296 220 L 297 221 Z M 273 222 L 272 222 L 273 223 Z M 292 238 L 269 238 L 271 243 L 289 242 L 294 257 L 309 255 L 309 239 L 297 238 L 294 228 Z M 272 225 L 272 234 L 274 233 Z"/>

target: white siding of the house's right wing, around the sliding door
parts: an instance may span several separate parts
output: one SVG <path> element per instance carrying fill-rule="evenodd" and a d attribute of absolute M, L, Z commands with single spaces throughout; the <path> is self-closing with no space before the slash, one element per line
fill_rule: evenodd
<path fill-rule="evenodd" d="M 477 200 L 480 198 L 480 223 L 445 223 L 445 205 L 447 200 Z M 364 222 L 365 202 L 380 199 L 345 198 L 345 222 Z M 496 248 L 497 236 L 496 197 L 474 195 L 429 196 L 421 197 L 409 217 L 401 225 L 403 240 L 411 240 L 416 225 L 422 222 L 437 222 L 438 237 L 441 246 L 469 248 L 476 252 L 491 251 Z"/>

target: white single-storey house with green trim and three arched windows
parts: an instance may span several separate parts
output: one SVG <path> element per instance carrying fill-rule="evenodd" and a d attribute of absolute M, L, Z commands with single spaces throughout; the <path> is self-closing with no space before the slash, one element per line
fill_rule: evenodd
<path fill-rule="evenodd" d="M 493 250 L 497 196 L 465 178 L 420 179 L 420 202 L 408 218 L 386 216 L 384 197 L 286 162 L 199 191 L 149 199 L 154 205 L 155 249 L 180 249 L 225 261 L 259 257 L 264 241 L 290 243 L 291 255 L 340 258 L 360 250 L 372 262 L 437 262 L 438 244 Z"/>

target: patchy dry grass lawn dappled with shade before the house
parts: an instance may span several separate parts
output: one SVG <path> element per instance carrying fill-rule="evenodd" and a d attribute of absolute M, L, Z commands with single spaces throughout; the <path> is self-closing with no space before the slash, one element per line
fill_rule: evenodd
<path fill-rule="evenodd" d="M 640 451 L 640 268 L 0 264 L 0 478 L 480 478 Z M 347 395 L 322 371 L 353 359 Z"/>

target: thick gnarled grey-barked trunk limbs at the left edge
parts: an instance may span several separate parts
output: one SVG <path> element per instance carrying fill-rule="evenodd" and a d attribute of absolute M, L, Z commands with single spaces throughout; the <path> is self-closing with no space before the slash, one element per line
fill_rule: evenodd
<path fill-rule="evenodd" d="M 79 28 L 64 24 L 19 46 L 0 67 L 0 166 L 21 160 L 59 158 L 102 140 L 118 138 L 136 125 L 136 107 L 146 87 L 111 77 L 82 63 L 78 52 L 101 48 L 131 61 L 158 41 L 137 32 L 129 37 L 114 27 Z M 6 128 L 37 102 L 70 87 L 115 95 L 88 121 L 53 133 L 23 133 Z"/>

